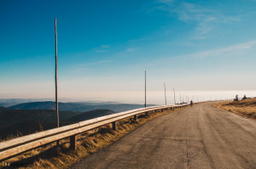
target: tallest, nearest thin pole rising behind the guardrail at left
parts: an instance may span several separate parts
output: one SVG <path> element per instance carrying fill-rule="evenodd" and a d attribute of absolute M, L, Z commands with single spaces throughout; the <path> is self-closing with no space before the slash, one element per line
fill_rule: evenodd
<path fill-rule="evenodd" d="M 56 111 L 56 125 L 60 127 L 59 110 L 58 110 L 58 82 L 57 82 L 57 20 L 55 19 L 55 111 Z"/>

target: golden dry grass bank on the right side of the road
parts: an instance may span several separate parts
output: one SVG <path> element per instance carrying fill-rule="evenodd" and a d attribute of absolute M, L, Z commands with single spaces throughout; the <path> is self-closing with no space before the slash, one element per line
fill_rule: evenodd
<path fill-rule="evenodd" d="M 256 119 L 256 99 L 242 99 L 239 101 L 213 104 L 214 107 L 234 112 L 252 119 Z"/>

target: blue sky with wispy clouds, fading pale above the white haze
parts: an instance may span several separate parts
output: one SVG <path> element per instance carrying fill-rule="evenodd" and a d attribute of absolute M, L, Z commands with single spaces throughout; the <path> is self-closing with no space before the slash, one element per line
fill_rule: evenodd
<path fill-rule="evenodd" d="M 61 98 L 256 89 L 256 1 L 0 0 L 0 98 L 54 98 L 55 18 Z"/>

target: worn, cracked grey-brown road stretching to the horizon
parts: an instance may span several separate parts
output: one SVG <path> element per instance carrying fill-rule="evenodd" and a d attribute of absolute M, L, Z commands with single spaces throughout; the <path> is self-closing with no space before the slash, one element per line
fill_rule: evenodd
<path fill-rule="evenodd" d="M 211 103 L 149 121 L 71 168 L 256 168 L 256 121 Z"/>

